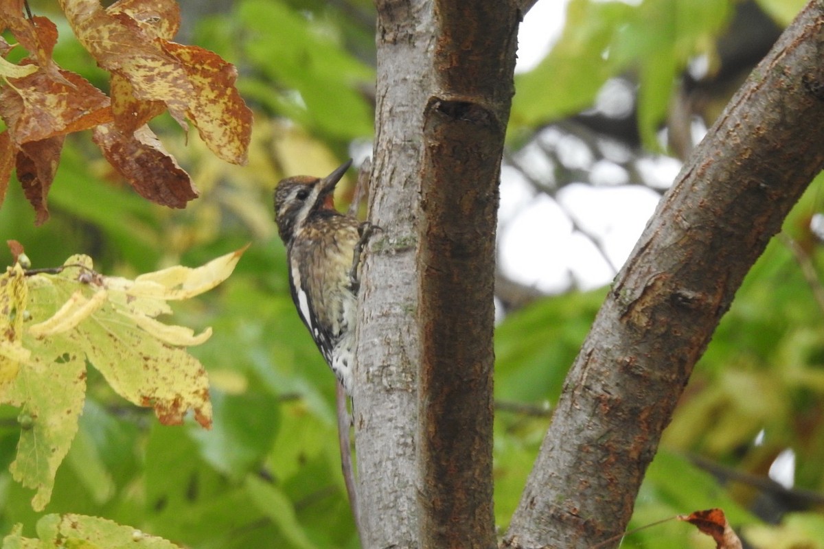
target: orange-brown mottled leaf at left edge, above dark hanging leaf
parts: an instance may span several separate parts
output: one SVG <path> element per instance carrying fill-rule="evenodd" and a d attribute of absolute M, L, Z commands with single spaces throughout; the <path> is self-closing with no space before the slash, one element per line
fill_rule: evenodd
<path fill-rule="evenodd" d="M 0 88 L 0 117 L 16 146 L 88 129 L 112 119 L 109 98 L 74 72 L 46 72 L 10 78 Z"/>

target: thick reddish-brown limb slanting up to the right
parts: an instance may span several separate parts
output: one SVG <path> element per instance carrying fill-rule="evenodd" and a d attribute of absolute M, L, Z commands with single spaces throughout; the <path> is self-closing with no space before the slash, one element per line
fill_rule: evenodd
<path fill-rule="evenodd" d="M 506 547 L 591 547 L 625 528 L 695 361 L 824 166 L 822 27 L 815 0 L 658 206 L 569 372 Z"/>

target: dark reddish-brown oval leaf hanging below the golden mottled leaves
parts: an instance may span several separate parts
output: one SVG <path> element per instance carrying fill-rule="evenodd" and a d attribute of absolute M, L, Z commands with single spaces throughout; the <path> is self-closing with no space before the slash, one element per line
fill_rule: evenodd
<path fill-rule="evenodd" d="M 114 123 L 94 128 L 91 138 L 106 160 L 123 174 L 140 196 L 169 207 L 185 207 L 198 192 L 183 169 L 148 126 L 130 135 Z"/>

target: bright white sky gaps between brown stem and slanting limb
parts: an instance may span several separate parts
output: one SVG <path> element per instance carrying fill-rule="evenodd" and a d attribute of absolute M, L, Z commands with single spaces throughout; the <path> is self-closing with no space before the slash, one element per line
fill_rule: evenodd
<path fill-rule="evenodd" d="M 535 67 L 558 40 L 567 2 L 541 0 L 527 13 L 518 34 L 516 72 Z M 562 145 L 563 142 L 557 144 Z M 593 175 L 602 173 L 602 178 L 610 183 L 599 187 L 571 184 L 559 191 L 558 202 L 555 202 L 537 193 L 517 170 L 505 168 L 501 174 L 501 268 L 514 281 L 546 292 L 564 291 L 570 282 L 583 289 L 608 284 L 616 274 L 615 268 L 620 268 L 632 251 L 658 204 L 658 194 L 651 189 L 622 185 L 627 177 L 620 166 L 611 162 L 593 164 L 592 155 L 585 147 L 569 145 L 568 148 L 569 151 L 559 148 L 559 153 L 580 164 L 578 167 L 600 170 Z M 524 160 L 531 177 L 539 180 L 543 179 L 541 174 L 552 169 L 551 165 L 545 165 L 541 155 L 527 156 Z M 667 187 L 680 165 L 662 157 L 645 159 L 637 168 Z M 598 240 L 609 262 L 590 238 L 574 230 L 570 216 Z"/>

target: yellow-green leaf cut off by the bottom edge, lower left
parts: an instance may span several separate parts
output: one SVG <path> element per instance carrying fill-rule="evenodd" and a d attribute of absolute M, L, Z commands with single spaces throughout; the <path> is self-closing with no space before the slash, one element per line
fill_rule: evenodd
<path fill-rule="evenodd" d="M 3 539 L 2 547 L 3 549 L 12 547 L 173 549 L 178 547 L 162 537 L 150 536 L 137 528 L 82 514 L 47 514 L 37 522 L 37 535 L 40 537 L 40 542 L 22 537 L 22 529 L 15 527 L 12 533 Z"/>

